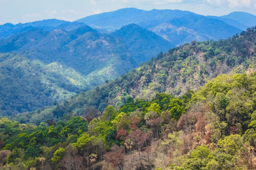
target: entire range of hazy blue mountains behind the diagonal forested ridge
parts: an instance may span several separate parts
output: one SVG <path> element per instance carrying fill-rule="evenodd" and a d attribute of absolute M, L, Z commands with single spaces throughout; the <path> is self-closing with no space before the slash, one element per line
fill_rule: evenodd
<path fill-rule="evenodd" d="M 250 19 L 242 20 L 237 17 L 238 14 Z M 55 68 L 53 70 L 60 76 L 56 78 L 56 75 L 47 75 L 48 79 L 52 80 L 52 84 L 59 84 L 63 80 L 65 86 L 72 87 L 64 90 L 65 95 L 60 92 L 63 90 L 59 90 L 64 85 L 52 86 L 43 83 L 39 88 L 46 95 L 42 97 L 43 100 L 36 98 L 38 94 L 35 90 L 27 91 L 28 96 L 31 96 L 27 101 L 36 101 L 37 104 L 24 104 L 27 107 L 16 108 L 13 105 L 26 103 L 24 101 L 26 98 L 23 97 L 22 92 L 10 91 L 15 93 L 15 95 L 10 94 L 10 96 L 16 96 L 15 100 L 12 103 L 2 102 L 1 111 L 11 115 L 12 112 L 22 113 L 52 105 L 55 100 L 63 101 L 67 99 L 67 96 L 73 96 L 79 91 L 88 91 L 104 82 L 118 78 L 118 76 L 138 67 L 139 64 L 149 61 L 152 57 L 162 56 L 164 52 L 177 45 L 193 40 L 208 43 L 210 39 L 225 39 L 236 35 L 247 25 L 253 24 L 254 19 L 254 15 L 244 12 L 234 12 L 217 17 L 180 10 L 144 11 L 136 8 L 124 8 L 88 16 L 76 22 L 48 19 L 24 24 L 0 25 L 0 53 L 2 56 L 22 57 L 24 62 L 28 62 L 27 65 L 34 70 L 36 70 L 35 65 L 30 65 L 30 63 L 36 60 L 36 62 L 40 62 L 40 67 L 57 66 L 60 68 L 61 66 L 61 68 L 73 70 L 72 73 L 75 74 L 74 78 L 71 78 L 64 74 L 64 69 Z M 5 62 L 9 63 L 9 61 L 11 60 L 7 59 Z M 15 67 L 12 62 L 9 64 L 10 67 Z M 5 69 L 6 67 L 3 70 Z M 27 74 L 27 70 L 23 69 L 24 67 L 21 70 L 26 73 L 22 76 L 23 83 L 31 81 L 33 76 Z M 3 73 L 7 72 L 3 71 Z M 18 77 L 15 79 L 15 75 L 11 73 L 3 75 L 5 79 L 20 82 L 20 79 Z M 46 76 L 37 75 L 39 76 L 35 78 L 35 81 L 44 80 L 40 76 Z M 77 82 L 77 79 L 80 82 Z M 9 86 L 8 82 L 5 82 L 6 87 Z M 23 86 L 19 86 L 18 83 L 14 84 L 15 86 L 10 84 L 10 87 L 17 90 Z M 77 86 L 77 84 L 80 85 Z M 38 85 L 32 83 L 30 86 L 33 89 Z M 47 86 L 51 91 L 47 92 L 49 89 Z M 6 96 L 6 91 L 2 92 L 2 96 Z M 3 97 L 2 100 L 9 101 L 9 98 Z M 117 101 L 121 101 L 121 99 Z M 102 108 L 104 106 L 102 104 Z"/>

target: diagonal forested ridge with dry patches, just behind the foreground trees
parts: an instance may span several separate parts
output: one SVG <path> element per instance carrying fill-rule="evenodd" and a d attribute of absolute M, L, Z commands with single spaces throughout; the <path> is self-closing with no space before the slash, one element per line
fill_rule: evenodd
<path fill-rule="evenodd" d="M 166 54 L 160 53 L 138 69 L 93 90 L 81 92 L 51 108 L 51 111 L 19 114 L 16 118 L 26 120 L 24 116 L 32 116 L 35 120 L 41 117 L 41 112 L 42 115 L 57 118 L 68 113 L 81 115 L 88 107 L 102 112 L 108 105 L 120 107 L 129 97 L 150 100 L 156 93 L 180 96 L 188 90 L 196 91 L 218 74 L 253 73 L 256 63 L 255 42 L 255 27 L 226 40 L 193 41 L 172 48 Z"/>

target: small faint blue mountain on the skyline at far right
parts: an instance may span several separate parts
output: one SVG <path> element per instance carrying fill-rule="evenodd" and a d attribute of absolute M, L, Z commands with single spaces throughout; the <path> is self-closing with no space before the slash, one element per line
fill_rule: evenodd
<path fill-rule="evenodd" d="M 220 16 L 220 18 L 232 19 L 246 25 L 247 27 L 256 25 L 256 16 L 247 12 L 232 12 L 228 15 Z"/>

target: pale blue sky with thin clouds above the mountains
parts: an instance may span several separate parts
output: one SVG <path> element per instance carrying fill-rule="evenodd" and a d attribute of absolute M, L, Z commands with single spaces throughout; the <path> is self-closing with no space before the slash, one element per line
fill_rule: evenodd
<path fill-rule="evenodd" d="M 0 25 L 52 18 L 75 21 L 126 7 L 177 9 L 215 16 L 234 11 L 256 15 L 256 0 L 0 0 Z"/>

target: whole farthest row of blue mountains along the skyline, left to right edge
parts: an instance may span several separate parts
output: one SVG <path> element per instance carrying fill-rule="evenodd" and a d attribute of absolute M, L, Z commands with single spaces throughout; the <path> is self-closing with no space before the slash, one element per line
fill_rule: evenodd
<path fill-rule="evenodd" d="M 176 33 L 176 35 L 183 38 L 180 39 L 175 36 L 171 36 L 172 39 L 169 37 L 169 39 L 166 38 L 166 40 L 170 41 L 174 45 L 180 45 L 185 42 L 190 42 L 194 36 L 196 38 L 195 40 L 225 39 L 235 35 L 236 33 L 240 33 L 247 27 L 253 26 L 255 24 L 255 18 L 255 15 L 246 12 L 232 12 L 229 15 L 218 17 L 203 16 L 181 10 L 144 11 L 137 8 L 122 8 L 117 11 L 104 12 L 102 14 L 91 15 L 76 20 L 76 22 L 79 23 L 48 19 L 25 24 L 12 25 L 8 23 L 0 25 L 0 39 L 10 37 L 16 33 L 24 32 L 33 28 L 40 28 L 47 31 L 53 31 L 54 29 L 70 31 L 71 29 L 84 26 L 82 25 L 82 23 L 84 23 L 90 25 L 90 27 L 93 27 L 94 29 L 98 29 L 101 33 L 109 33 L 127 24 L 137 24 L 150 31 L 155 27 L 162 29 L 161 33 L 159 31 L 155 32 L 159 33 L 158 35 L 162 37 L 168 37 L 168 34 L 170 35 L 171 33 L 171 35 L 175 35 Z M 172 31 L 168 29 L 169 31 L 164 33 L 163 30 L 165 28 L 160 28 L 164 23 L 175 26 L 175 29 Z M 183 31 L 177 31 L 177 29 L 181 29 Z M 184 31 L 186 29 L 187 31 Z M 192 32 L 192 35 L 189 35 L 189 32 Z"/>

